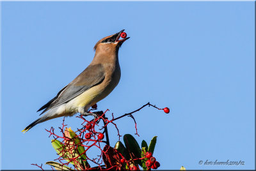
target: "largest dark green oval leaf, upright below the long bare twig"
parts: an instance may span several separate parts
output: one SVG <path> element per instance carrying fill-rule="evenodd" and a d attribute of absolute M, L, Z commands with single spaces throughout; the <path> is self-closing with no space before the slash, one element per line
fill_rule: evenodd
<path fill-rule="evenodd" d="M 124 144 L 126 149 L 134 154 L 136 158 L 141 158 L 141 149 L 140 145 L 136 141 L 134 137 L 132 137 L 131 134 L 125 134 L 124 135 Z M 135 163 L 139 164 L 141 166 L 141 160 L 136 160 Z"/>

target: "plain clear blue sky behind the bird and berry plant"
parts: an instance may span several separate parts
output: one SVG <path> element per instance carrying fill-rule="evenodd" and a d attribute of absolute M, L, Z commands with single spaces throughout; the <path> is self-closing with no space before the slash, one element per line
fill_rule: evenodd
<path fill-rule="evenodd" d="M 161 169 L 255 169 L 254 2 L 1 2 L 1 168 L 57 158 L 36 110 L 92 61 L 95 43 L 125 29 L 122 77 L 98 103 L 134 114 L 138 142 L 157 135 Z M 77 128 L 76 117 L 66 119 Z M 120 133 L 134 135 L 127 117 Z M 118 137 L 109 127 L 111 145 Z M 199 165 L 199 161 L 244 165 Z M 45 169 L 51 169 L 44 165 Z"/>

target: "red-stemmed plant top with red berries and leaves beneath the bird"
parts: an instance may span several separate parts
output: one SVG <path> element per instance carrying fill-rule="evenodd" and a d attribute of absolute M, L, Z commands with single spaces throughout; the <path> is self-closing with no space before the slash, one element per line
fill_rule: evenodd
<path fill-rule="evenodd" d="M 146 106 L 157 108 L 155 105 L 151 105 L 150 103 L 143 105 L 141 108 Z M 93 105 L 92 108 L 92 110 L 95 110 L 97 108 L 97 104 Z M 152 145 L 154 146 L 152 152 L 147 152 L 148 149 L 152 150 L 150 145 L 145 151 L 144 146 L 147 146 L 146 142 L 146 145 L 141 145 L 141 147 L 139 147 L 138 142 L 136 142 L 132 135 L 124 135 L 125 145 L 120 142 L 120 137 L 122 136 L 119 134 L 118 128 L 114 121 L 127 115 L 130 116 L 134 120 L 136 135 L 138 135 L 136 121 L 132 114 L 134 112 L 138 112 L 141 110 L 141 108 L 116 118 L 114 118 L 112 114 L 112 119 L 105 117 L 105 114 L 108 112 L 108 110 L 102 113 L 95 112 L 99 116 L 92 121 L 87 121 L 83 115 L 79 115 L 77 117 L 83 119 L 83 123 L 81 124 L 83 127 L 80 129 L 77 128 L 77 131 L 72 131 L 71 128 L 67 128 L 67 124 L 64 124 L 65 120 L 63 119 L 63 124 L 61 127 L 59 127 L 61 135 L 54 133 L 54 128 L 47 130 L 50 133 L 50 136 L 52 135 L 54 138 L 52 140 L 52 146 L 60 155 L 59 158 L 56 159 L 60 161 L 60 163 L 55 161 L 48 161 L 46 164 L 55 168 L 66 168 L 73 170 L 140 170 L 139 165 L 143 167 L 143 170 L 150 170 L 151 168 L 156 169 L 160 167 L 160 163 L 156 161 L 156 158 L 152 156 L 152 152 L 154 152 L 154 147 L 156 145 L 156 139 L 154 139 L 156 136 L 150 142 L 150 144 L 154 144 Z M 164 110 L 165 113 L 170 112 L 170 109 L 167 107 L 157 109 Z M 99 128 L 100 121 L 103 123 L 102 128 Z M 113 126 L 115 126 L 119 136 L 119 141 L 116 144 L 120 145 L 116 145 L 115 148 L 109 146 L 107 129 L 109 124 L 113 124 Z M 103 140 L 105 137 L 106 141 Z M 102 144 L 106 145 L 104 145 L 102 148 Z M 88 151 L 92 147 L 96 147 L 100 150 L 100 155 L 98 155 L 96 158 L 89 158 L 87 155 Z M 88 161 L 92 162 L 94 165 L 96 165 L 96 167 L 92 167 Z M 102 162 L 104 162 L 105 165 L 102 165 Z M 74 168 L 69 167 L 69 165 L 73 165 Z"/>

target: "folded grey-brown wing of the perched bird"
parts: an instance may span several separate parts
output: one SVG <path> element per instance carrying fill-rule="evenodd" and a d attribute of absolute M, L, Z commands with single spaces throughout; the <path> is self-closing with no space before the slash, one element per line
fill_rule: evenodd
<path fill-rule="evenodd" d="M 79 96 L 79 94 L 84 93 L 84 91 L 100 84 L 104 78 L 104 70 L 101 64 L 89 65 L 72 82 L 70 82 L 70 84 L 63 87 L 56 97 L 46 103 L 38 111 L 45 109 L 41 113 L 44 114 L 44 112 L 51 108 L 67 103 L 68 101 L 76 98 L 76 96 Z"/>

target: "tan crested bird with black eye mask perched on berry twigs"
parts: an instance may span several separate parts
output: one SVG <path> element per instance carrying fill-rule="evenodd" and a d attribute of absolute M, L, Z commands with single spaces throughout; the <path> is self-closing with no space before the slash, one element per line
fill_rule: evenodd
<path fill-rule="evenodd" d="M 124 41 L 130 37 L 120 39 L 124 29 L 118 33 L 106 36 L 95 44 L 95 56 L 88 67 L 72 82 L 63 87 L 61 91 L 39 108 L 43 110 L 42 117 L 29 124 L 22 132 L 57 117 L 72 116 L 80 113 L 92 115 L 88 109 L 98 101 L 106 98 L 120 81 L 121 70 L 118 61 L 118 50 Z"/>

